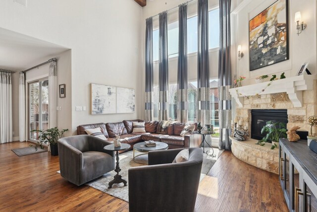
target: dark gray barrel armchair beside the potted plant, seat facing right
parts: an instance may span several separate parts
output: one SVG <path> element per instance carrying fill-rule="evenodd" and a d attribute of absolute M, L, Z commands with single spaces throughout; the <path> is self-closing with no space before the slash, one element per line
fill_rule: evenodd
<path fill-rule="evenodd" d="M 79 186 L 115 168 L 113 151 L 104 150 L 108 141 L 94 136 L 70 136 L 58 140 L 60 175 Z"/>

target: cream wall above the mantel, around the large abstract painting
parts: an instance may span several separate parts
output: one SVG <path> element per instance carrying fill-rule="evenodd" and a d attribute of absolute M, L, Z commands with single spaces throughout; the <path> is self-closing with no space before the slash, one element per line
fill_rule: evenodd
<path fill-rule="evenodd" d="M 316 0 L 288 0 L 289 1 L 289 60 L 264 67 L 259 70 L 249 71 L 249 20 L 263 11 L 275 0 L 237 0 L 239 4 L 236 9 L 237 20 L 237 42 L 242 46 L 244 57 L 237 61 L 237 75 L 246 76 L 243 85 L 254 84 L 257 76 L 264 74 L 276 74 L 285 72 L 286 77 L 295 76 L 301 65 L 309 62 L 308 69 L 316 74 Z M 298 36 L 294 22 L 295 12 L 301 11 L 302 21 L 307 23 L 307 28 Z M 232 57 L 237 58 L 233 52 Z"/>

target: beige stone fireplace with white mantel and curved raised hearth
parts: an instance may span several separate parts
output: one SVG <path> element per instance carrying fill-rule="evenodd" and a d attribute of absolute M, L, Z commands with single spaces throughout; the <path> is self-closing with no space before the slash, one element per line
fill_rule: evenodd
<path fill-rule="evenodd" d="M 251 111 L 254 109 L 285 110 L 288 130 L 299 126 L 300 130 L 310 131 L 306 120 L 309 116 L 317 115 L 316 78 L 316 75 L 294 76 L 273 81 L 268 87 L 268 82 L 264 82 L 231 88 L 230 94 L 236 100 L 233 114 L 236 120 L 243 122 L 243 126 L 248 126 L 249 135 L 255 129 L 253 125 L 257 124 L 251 122 Z M 313 128 L 313 134 L 315 133 L 317 133 L 316 127 Z M 268 143 L 264 146 L 256 145 L 258 140 L 259 138 L 249 138 L 247 141 L 236 141 L 232 138 L 232 153 L 251 165 L 277 174 L 278 149 L 270 149 Z"/>

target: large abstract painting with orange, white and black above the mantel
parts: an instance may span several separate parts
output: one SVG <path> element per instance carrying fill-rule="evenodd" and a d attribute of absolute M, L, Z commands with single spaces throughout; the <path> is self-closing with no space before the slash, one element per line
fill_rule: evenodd
<path fill-rule="evenodd" d="M 289 59 L 288 0 L 277 0 L 249 21 L 250 71 Z"/>

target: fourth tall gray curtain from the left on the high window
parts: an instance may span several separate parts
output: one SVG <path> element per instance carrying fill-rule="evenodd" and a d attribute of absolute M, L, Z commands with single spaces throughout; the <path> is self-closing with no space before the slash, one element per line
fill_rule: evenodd
<path fill-rule="evenodd" d="M 210 124 L 208 0 L 198 0 L 197 122 Z"/>

